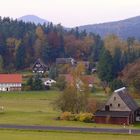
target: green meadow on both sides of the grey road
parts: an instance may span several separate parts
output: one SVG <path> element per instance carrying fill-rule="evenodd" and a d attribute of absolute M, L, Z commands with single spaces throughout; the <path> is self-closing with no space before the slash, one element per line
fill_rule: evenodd
<path fill-rule="evenodd" d="M 78 121 L 60 121 L 56 118 L 60 111 L 54 108 L 55 99 L 61 94 L 58 91 L 39 92 L 1 92 L 0 93 L 0 124 L 18 125 L 49 125 L 49 126 L 73 126 L 73 127 L 107 127 L 123 128 L 121 125 L 84 123 Z M 91 98 L 106 100 L 106 95 L 91 94 Z M 137 100 L 139 103 L 139 99 Z M 140 125 L 126 126 L 126 128 L 139 128 Z M 137 140 L 140 135 L 111 135 L 93 133 L 66 133 L 45 131 L 19 131 L 0 130 L 0 139 L 4 140 Z"/>

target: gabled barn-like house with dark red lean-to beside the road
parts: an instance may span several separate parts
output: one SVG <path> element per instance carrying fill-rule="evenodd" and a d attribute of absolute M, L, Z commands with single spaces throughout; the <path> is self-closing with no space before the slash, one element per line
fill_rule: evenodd
<path fill-rule="evenodd" d="M 125 87 L 115 90 L 106 104 L 95 113 L 96 123 L 129 125 L 140 121 L 140 109 Z"/>

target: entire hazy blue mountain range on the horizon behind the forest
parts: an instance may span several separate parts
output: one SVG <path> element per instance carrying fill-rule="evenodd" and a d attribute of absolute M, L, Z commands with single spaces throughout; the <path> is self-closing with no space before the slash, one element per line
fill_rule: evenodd
<path fill-rule="evenodd" d="M 47 24 L 49 22 L 46 19 L 42 19 L 35 15 L 25 15 L 18 18 L 18 20 L 22 20 L 24 22 L 32 22 L 36 25 L 43 25 L 43 23 Z M 70 30 L 71 28 L 66 29 Z M 83 25 L 79 26 L 79 30 L 86 30 L 88 33 L 92 32 L 99 34 L 101 37 L 105 37 L 109 34 L 116 34 L 123 39 L 127 39 L 128 37 L 135 37 L 136 39 L 140 39 L 140 16 L 114 22 Z"/>

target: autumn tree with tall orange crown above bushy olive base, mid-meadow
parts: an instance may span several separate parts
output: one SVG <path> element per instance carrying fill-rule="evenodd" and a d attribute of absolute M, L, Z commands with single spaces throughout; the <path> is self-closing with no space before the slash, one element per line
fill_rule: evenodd
<path fill-rule="evenodd" d="M 57 100 L 57 106 L 63 112 L 80 113 L 86 111 L 89 91 L 86 82 L 82 79 L 84 72 L 85 68 L 82 63 L 71 69 L 73 83 L 67 84 L 65 90 Z"/>

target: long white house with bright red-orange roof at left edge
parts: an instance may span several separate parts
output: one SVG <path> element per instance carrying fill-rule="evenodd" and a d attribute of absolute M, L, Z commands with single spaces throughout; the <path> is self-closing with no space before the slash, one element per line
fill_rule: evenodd
<path fill-rule="evenodd" d="M 21 91 L 21 74 L 0 74 L 0 91 Z"/>

